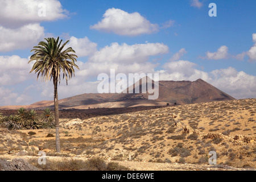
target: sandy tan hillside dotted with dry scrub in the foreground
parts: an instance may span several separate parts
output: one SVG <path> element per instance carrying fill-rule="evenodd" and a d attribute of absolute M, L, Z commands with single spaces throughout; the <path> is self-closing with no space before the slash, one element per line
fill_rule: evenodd
<path fill-rule="evenodd" d="M 256 99 L 216 101 L 86 119 L 63 111 L 61 156 L 98 156 L 140 170 L 255 168 L 255 105 Z M 55 130 L 29 131 L 1 129 L 2 156 L 30 158 L 43 150 L 54 160 Z M 210 151 L 217 153 L 216 168 L 208 165 Z"/>

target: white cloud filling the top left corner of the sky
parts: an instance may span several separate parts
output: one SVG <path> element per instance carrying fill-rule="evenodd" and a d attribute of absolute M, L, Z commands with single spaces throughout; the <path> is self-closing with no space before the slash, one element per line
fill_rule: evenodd
<path fill-rule="evenodd" d="M 40 3 L 45 5 L 45 16 L 39 16 L 42 9 Z M 67 13 L 57 0 L 0 1 L 0 25 L 4 27 L 14 28 L 29 23 L 67 18 Z"/>

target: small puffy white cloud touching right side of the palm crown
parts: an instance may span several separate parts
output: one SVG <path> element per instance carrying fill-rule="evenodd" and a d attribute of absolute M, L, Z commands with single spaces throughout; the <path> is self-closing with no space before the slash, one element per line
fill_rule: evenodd
<path fill-rule="evenodd" d="M 71 36 L 69 43 L 66 47 L 72 47 L 76 51 L 76 55 L 79 57 L 89 56 L 97 51 L 97 43 L 90 42 L 90 40 L 85 36 L 85 38 L 75 38 Z"/>

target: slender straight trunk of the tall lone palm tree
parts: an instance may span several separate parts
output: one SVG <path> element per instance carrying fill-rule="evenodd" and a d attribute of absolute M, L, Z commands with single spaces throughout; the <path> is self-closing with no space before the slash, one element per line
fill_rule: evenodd
<path fill-rule="evenodd" d="M 54 109 L 55 109 L 55 125 L 56 125 L 56 152 L 60 153 L 60 125 L 59 125 L 59 101 L 58 101 L 58 90 L 57 78 L 53 77 L 53 85 L 54 85 Z"/>

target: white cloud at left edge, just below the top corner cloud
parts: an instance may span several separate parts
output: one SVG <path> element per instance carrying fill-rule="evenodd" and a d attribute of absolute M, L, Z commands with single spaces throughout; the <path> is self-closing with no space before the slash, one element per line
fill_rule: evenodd
<path fill-rule="evenodd" d="M 44 28 L 39 23 L 27 24 L 10 29 L 0 26 L 0 52 L 31 48 L 44 36 Z"/>

